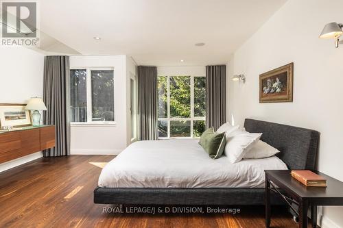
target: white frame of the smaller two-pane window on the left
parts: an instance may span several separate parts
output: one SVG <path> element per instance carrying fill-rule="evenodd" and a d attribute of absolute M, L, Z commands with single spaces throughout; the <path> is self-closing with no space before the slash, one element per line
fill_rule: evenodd
<path fill-rule="evenodd" d="M 87 126 L 113 126 L 117 125 L 116 123 L 116 112 L 115 112 L 115 91 L 113 92 L 113 107 L 114 107 L 114 121 L 93 121 L 93 114 L 92 114 L 92 75 L 91 71 L 113 71 L 113 81 L 115 82 L 115 68 L 113 67 L 72 67 L 72 70 L 86 70 L 86 101 L 87 101 L 87 122 L 71 122 L 72 126 L 80 126 L 80 127 L 87 127 Z M 70 72 L 69 71 L 69 72 Z M 113 90 L 115 90 L 115 86 L 113 86 Z"/>

